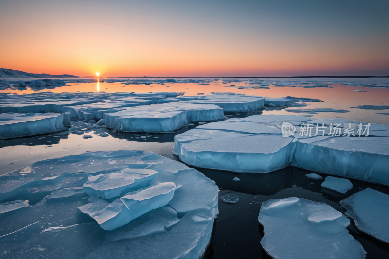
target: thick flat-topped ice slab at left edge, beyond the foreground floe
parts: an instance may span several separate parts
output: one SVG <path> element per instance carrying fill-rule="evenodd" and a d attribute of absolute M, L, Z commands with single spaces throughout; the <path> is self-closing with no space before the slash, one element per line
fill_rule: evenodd
<path fill-rule="evenodd" d="M 0 139 L 53 133 L 67 130 L 68 114 L 59 113 L 2 113 Z"/>

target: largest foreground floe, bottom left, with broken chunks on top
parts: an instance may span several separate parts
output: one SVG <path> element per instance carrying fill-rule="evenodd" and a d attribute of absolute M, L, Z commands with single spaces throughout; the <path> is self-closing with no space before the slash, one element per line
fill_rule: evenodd
<path fill-rule="evenodd" d="M 0 176 L 0 253 L 12 259 L 201 258 L 218 192 L 202 173 L 152 152 L 40 161 Z"/>

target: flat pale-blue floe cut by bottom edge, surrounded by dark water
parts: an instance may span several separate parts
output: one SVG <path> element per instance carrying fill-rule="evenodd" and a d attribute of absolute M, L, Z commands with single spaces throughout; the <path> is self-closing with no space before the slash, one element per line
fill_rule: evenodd
<path fill-rule="evenodd" d="M 270 199 L 262 204 L 258 221 L 264 226 L 261 245 L 272 258 L 365 258 L 363 247 L 346 229 L 350 220 L 324 203 Z"/>

